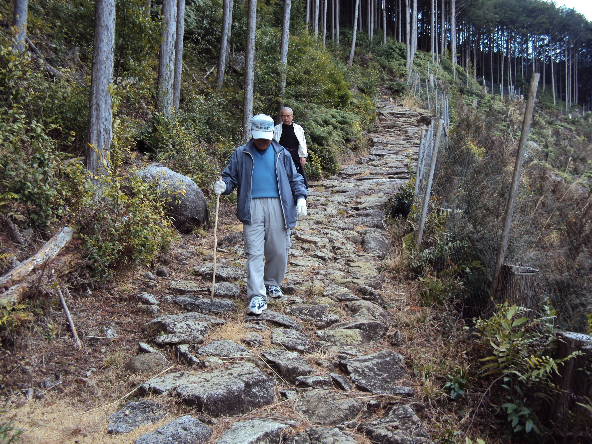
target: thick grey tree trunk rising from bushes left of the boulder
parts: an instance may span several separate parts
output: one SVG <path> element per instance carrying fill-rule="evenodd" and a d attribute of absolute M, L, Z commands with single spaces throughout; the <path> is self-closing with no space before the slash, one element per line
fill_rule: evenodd
<path fill-rule="evenodd" d="M 106 174 L 113 137 L 110 86 L 113 81 L 115 0 L 95 3 L 95 42 L 90 98 L 90 124 L 86 167 L 93 175 Z"/>

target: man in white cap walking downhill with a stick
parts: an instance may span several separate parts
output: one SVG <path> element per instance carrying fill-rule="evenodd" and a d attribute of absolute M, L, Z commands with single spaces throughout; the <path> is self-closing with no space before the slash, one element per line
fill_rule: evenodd
<path fill-rule="evenodd" d="M 280 285 L 288 267 L 290 230 L 306 216 L 304 179 L 290 153 L 273 141 L 273 127 L 273 119 L 265 114 L 251 118 L 251 140 L 235 150 L 213 185 L 216 194 L 238 189 L 249 311 L 256 315 L 267 309 L 267 296 L 283 296 Z"/>

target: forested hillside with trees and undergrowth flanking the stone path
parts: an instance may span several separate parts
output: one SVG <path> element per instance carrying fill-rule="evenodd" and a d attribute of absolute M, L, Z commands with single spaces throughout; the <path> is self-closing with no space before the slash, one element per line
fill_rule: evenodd
<path fill-rule="evenodd" d="M 379 98 L 439 120 L 445 97 L 450 127 L 425 229 L 415 171 L 385 209 L 382 270 L 413 288 L 427 313 L 419 328 L 449 347 L 410 352 L 422 419 L 443 443 L 590 439 L 590 349 L 557 339 L 592 334 L 583 15 L 545 0 L 12 0 L 0 3 L 0 25 L 0 412 L 22 404 L 11 356 L 48 337 L 60 288 L 76 305 L 212 230 L 179 230 L 140 169 L 158 162 L 189 177 L 211 218 L 211 184 L 253 114 L 294 110 L 314 187 L 368 151 Z M 537 74 L 502 257 L 534 273 L 510 300 L 492 286 Z M 15 277 L 64 227 L 75 247 Z M 568 368 L 585 381 L 578 390 Z M 0 443 L 23 432 L 0 418 Z"/>

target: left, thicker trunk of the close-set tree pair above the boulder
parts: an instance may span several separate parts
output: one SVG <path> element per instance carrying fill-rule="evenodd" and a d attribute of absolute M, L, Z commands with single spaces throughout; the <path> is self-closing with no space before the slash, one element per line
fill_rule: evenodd
<path fill-rule="evenodd" d="M 177 1 L 163 0 L 162 37 L 158 68 L 158 111 L 169 116 L 173 109 L 175 40 L 177 34 Z"/>

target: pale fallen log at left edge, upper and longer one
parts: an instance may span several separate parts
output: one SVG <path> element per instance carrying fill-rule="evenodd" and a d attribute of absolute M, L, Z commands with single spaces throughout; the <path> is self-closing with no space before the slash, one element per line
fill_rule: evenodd
<path fill-rule="evenodd" d="M 4 276 L 0 277 L 0 287 L 10 287 L 0 295 L 0 300 L 3 300 L 5 294 L 11 291 L 17 283 L 25 279 L 32 271 L 54 259 L 72 240 L 73 234 L 74 230 L 72 228 L 62 228 L 59 233 L 48 240 L 37 253 L 10 270 Z"/>

